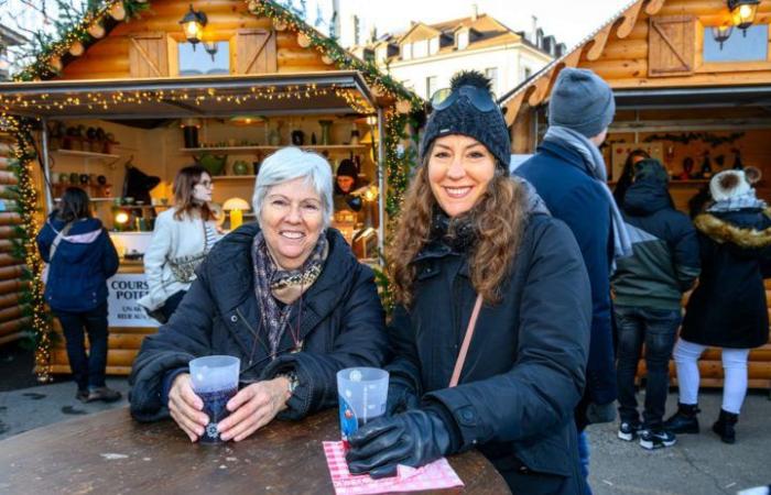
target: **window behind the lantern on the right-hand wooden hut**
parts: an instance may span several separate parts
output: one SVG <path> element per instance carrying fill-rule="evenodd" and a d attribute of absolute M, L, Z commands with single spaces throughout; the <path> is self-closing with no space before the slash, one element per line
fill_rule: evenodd
<path fill-rule="evenodd" d="M 753 24 L 747 29 L 734 29 L 728 40 L 720 43 L 713 37 L 713 28 L 704 28 L 704 62 L 767 61 L 769 55 L 769 25 Z"/>

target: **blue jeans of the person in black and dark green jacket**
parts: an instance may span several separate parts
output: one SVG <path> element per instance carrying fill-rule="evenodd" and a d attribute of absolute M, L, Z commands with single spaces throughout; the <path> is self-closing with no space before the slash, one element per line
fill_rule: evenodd
<path fill-rule="evenodd" d="M 682 320 L 681 311 L 615 306 L 613 315 L 618 329 L 616 376 L 621 421 L 640 421 L 634 397 L 634 375 L 644 343 L 648 375 L 642 426 L 661 428 L 670 387 L 670 358 Z"/>

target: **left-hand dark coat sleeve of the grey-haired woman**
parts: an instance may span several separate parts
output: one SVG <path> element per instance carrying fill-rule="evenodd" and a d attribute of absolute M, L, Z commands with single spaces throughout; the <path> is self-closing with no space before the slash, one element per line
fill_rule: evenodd
<path fill-rule="evenodd" d="M 131 416 L 139 421 L 169 416 L 161 400 L 166 372 L 186 369 L 192 359 L 210 354 L 215 305 L 202 272 L 169 322 L 142 341 L 129 377 Z"/>

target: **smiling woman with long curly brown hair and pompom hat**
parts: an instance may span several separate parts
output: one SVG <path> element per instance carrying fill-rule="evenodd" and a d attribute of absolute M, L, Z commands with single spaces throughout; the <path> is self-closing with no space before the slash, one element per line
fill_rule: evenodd
<path fill-rule="evenodd" d="M 582 493 L 591 300 L 576 241 L 509 176 L 481 74 L 453 79 L 420 152 L 389 256 L 388 416 L 351 436 L 349 469 L 386 476 L 478 448 L 514 493 Z"/>

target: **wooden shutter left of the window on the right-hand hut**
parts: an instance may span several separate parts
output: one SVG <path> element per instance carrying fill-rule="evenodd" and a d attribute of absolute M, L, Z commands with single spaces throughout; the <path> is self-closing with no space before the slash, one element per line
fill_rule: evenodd
<path fill-rule="evenodd" d="M 651 18 L 648 34 L 648 76 L 693 74 L 696 20 L 692 15 Z"/>

